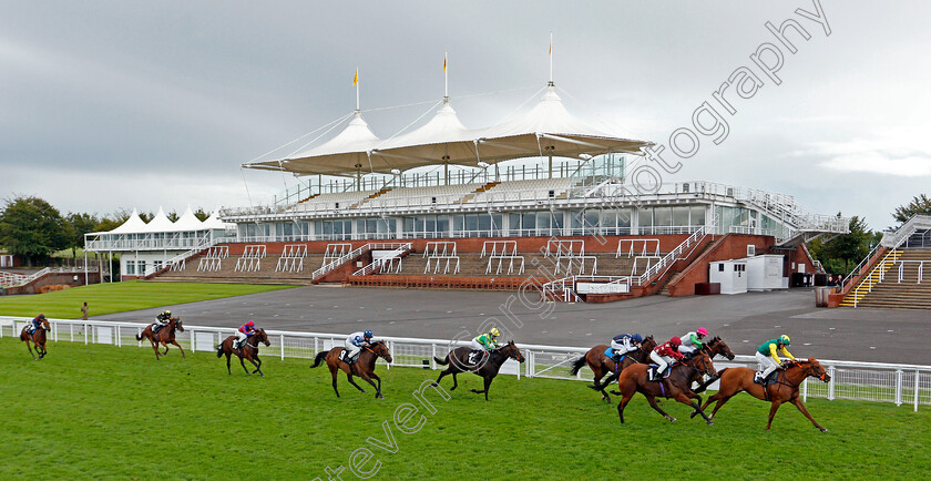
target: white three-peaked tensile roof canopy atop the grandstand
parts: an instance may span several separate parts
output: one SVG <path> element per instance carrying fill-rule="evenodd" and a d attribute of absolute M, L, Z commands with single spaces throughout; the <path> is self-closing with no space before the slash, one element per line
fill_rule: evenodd
<path fill-rule="evenodd" d="M 466 129 L 443 99 L 427 124 L 395 139 L 380 141 L 356 115 L 330 141 L 277 161 L 243 164 L 246 168 L 291 172 L 298 175 L 391 173 L 424 165 L 477 166 L 526 157 L 577 157 L 580 154 L 638 153 L 651 142 L 623 139 L 597 131 L 572 116 L 550 82 L 546 93 L 526 114 L 488 129 Z"/>

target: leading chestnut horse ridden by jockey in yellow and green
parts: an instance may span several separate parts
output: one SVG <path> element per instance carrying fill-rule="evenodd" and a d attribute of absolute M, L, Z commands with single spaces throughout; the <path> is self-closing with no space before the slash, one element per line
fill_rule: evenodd
<path fill-rule="evenodd" d="M 808 418 L 809 421 L 811 421 L 812 424 L 815 424 L 816 428 L 820 429 L 821 432 L 827 431 L 827 429 L 816 422 L 815 419 L 811 418 L 811 415 L 808 413 L 808 410 L 805 409 L 805 405 L 801 403 L 801 398 L 799 398 L 798 392 L 799 385 L 801 385 L 801 381 L 809 376 L 825 382 L 831 380 L 831 377 L 828 376 L 828 372 L 815 358 L 808 358 L 807 361 L 796 360 L 789 362 L 785 368 L 777 372 L 776 382 L 769 386 L 763 386 L 754 382 L 755 375 L 756 371 L 749 368 L 722 369 L 720 388 L 716 395 L 709 397 L 708 400 L 705 401 L 702 409 L 704 410 L 708 407 L 708 405 L 717 401 L 710 416 L 714 418 L 717 410 L 720 409 L 728 399 L 740 391 L 746 391 L 757 399 L 768 400 L 770 402 L 769 421 L 766 423 L 766 429 L 769 429 L 773 424 L 773 418 L 776 417 L 776 411 L 779 409 L 779 406 L 784 402 L 791 402 L 799 411 L 801 411 L 802 415 L 805 415 L 806 418 Z M 692 416 L 695 415 L 693 413 Z"/>

